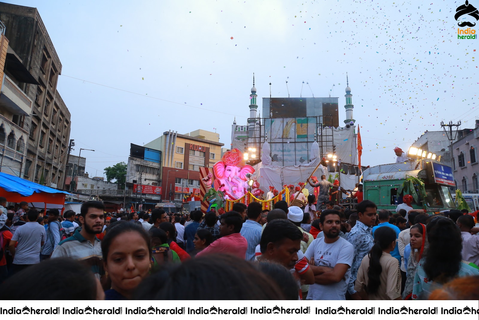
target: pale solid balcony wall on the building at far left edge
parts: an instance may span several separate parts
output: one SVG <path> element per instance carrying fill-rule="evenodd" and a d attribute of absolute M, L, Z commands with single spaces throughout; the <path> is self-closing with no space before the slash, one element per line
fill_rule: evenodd
<path fill-rule="evenodd" d="M 5 74 L 0 92 L 0 107 L 13 115 L 29 117 L 32 100 Z"/>

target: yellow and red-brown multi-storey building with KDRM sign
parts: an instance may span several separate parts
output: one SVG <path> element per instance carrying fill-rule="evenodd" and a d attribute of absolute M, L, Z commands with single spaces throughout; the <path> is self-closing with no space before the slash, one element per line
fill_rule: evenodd
<path fill-rule="evenodd" d="M 161 193 L 163 200 L 181 203 L 189 193 L 199 193 L 200 167 L 212 167 L 221 159 L 219 134 L 195 130 L 186 134 L 166 131 L 145 147 L 162 151 Z"/>

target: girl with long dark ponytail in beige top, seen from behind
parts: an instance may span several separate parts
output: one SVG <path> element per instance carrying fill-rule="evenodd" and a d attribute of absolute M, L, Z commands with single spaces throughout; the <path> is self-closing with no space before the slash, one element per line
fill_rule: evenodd
<path fill-rule="evenodd" d="M 389 254 L 396 247 L 396 232 L 388 226 L 376 229 L 374 246 L 359 266 L 356 290 L 363 299 L 401 300 L 399 261 Z"/>

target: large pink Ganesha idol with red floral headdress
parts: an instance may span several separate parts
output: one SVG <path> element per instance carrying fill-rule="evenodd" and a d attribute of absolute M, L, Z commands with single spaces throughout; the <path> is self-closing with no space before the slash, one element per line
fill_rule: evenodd
<path fill-rule="evenodd" d="M 237 148 L 227 151 L 221 161 L 213 166 L 215 173 L 215 189 L 223 191 L 227 199 L 236 200 L 248 192 L 248 178 L 246 174 L 253 173 L 254 168 L 246 165 L 243 154 Z M 255 181 L 251 186 L 251 193 L 260 194 L 259 183 Z"/>

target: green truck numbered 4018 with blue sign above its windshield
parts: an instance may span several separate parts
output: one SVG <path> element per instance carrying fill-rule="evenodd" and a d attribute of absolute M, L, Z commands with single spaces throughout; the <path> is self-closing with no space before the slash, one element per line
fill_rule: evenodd
<path fill-rule="evenodd" d="M 395 211 L 402 203 L 403 194 L 398 188 L 409 177 L 424 182 L 426 197 L 413 201 L 414 209 L 425 209 L 428 213 L 455 209 L 456 205 L 449 188 L 456 189 L 452 168 L 431 160 L 422 159 L 405 163 L 372 166 L 363 172 L 364 199 L 371 200 L 377 209 Z M 416 189 L 417 190 L 417 189 Z M 418 194 L 419 190 L 417 190 Z"/>

